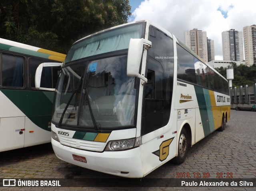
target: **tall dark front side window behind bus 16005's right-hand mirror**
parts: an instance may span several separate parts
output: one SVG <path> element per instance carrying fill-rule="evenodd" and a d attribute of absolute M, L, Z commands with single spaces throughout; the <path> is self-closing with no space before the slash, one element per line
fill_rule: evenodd
<path fill-rule="evenodd" d="M 150 26 L 144 100 L 142 135 L 165 126 L 170 119 L 172 102 L 174 52 L 173 40 L 162 31 Z"/>

